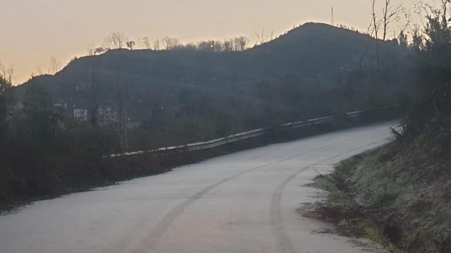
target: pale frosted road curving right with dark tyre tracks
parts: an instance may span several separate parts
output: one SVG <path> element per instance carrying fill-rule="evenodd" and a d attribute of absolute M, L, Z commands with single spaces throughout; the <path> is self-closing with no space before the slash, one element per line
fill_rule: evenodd
<path fill-rule="evenodd" d="M 394 122 L 245 150 L 0 216 L 0 252 L 363 252 L 296 210 L 316 171 L 386 143 Z"/>

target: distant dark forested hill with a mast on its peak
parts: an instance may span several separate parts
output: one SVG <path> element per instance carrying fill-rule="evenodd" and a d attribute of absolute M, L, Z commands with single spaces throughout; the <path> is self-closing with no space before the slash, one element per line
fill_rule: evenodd
<path fill-rule="evenodd" d="M 386 41 L 379 42 L 378 47 L 397 52 L 398 44 L 394 45 L 394 41 Z M 259 114 L 264 110 L 264 100 L 269 99 L 264 95 L 267 89 L 263 86 L 267 84 L 273 89 L 272 94 L 284 93 L 279 90 L 280 83 L 291 83 L 288 88 L 295 91 L 302 85 L 308 93 L 322 94 L 318 96 L 332 90 L 336 94 L 335 89 L 350 93 L 353 89 L 350 85 L 362 84 L 358 89 L 363 89 L 364 78 L 359 77 L 352 84 L 343 84 L 341 79 L 375 64 L 375 52 L 376 40 L 368 35 L 309 23 L 243 52 L 110 50 L 76 59 L 55 76 L 35 77 L 33 81 L 49 86 L 55 101 L 89 108 L 94 81 L 99 90 L 98 103 L 114 106 L 118 96 L 115 84 L 123 78 L 128 114 L 138 121 L 152 118 L 154 108 L 179 113 L 187 99 L 202 99 L 202 103 L 215 104 L 213 107 L 226 107 L 231 96 L 242 101 L 243 108 L 253 107 L 255 111 L 250 113 Z M 27 84 L 17 87 L 17 94 Z M 293 106 L 300 108 L 299 104 L 283 103 L 284 99 L 289 98 L 274 98 L 274 108 L 283 107 L 285 111 Z M 346 103 L 352 104 L 352 99 Z M 312 107 L 318 113 L 326 113 L 323 108 Z M 341 109 L 353 106 L 345 107 Z"/>

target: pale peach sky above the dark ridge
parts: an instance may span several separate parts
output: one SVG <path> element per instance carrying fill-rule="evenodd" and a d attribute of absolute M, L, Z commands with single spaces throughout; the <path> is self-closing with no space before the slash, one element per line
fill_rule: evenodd
<path fill-rule="evenodd" d="M 419 0 L 392 1 L 412 8 Z M 51 55 L 65 66 L 112 31 L 135 41 L 166 35 L 183 43 L 237 35 L 255 41 L 263 27 L 279 35 L 304 22 L 330 23 L 331 7 L 337 24 L 366 31 L 370 0 L 0 0 L 0 61 L 14 66 L 20 84 L 37 66 L 47 72 Z"/>

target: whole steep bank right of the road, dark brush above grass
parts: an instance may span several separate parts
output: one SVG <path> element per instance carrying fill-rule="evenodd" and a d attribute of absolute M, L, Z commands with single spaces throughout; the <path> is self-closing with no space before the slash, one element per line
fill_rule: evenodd
<path fill-rule="evenodd" d="M 391 252 L 451 252 L 451 103 L 437 94 L 392 131 L 395 141 L 317 178 L 330 192 L 324 218 L 363 228 Z"/>

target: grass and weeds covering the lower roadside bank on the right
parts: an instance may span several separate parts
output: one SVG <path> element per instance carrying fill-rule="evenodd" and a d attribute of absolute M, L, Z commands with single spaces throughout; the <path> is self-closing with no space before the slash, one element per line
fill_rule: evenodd
<path fill-rule="evenodd" d="M 390 253 L 451 253 L 451 180 L 430 173 L 451 163 L 428 162 L 422 145 L 397 145 L 364 152 L 318 175 L 311 186 L 329 198 L 313 212 L 338 224 L 337 234 L 371 240 Z"/>

